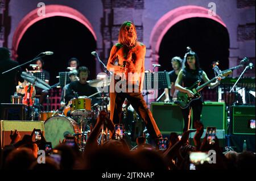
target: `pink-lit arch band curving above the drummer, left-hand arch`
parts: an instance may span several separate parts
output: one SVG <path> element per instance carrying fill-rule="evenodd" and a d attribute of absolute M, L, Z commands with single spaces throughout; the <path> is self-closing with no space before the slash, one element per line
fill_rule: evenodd
<path fill-rule="evenodd" d="M 12 44 L 13 59 L 16 60 L 16 57 L 18 56 L 16 52 L 18 50 L 20 40 L 22 39 L 22 36 L 28 30 L 28 28 L 30 28 L 34 23 L 42 19 L 50 18 L 53 16 L 63 16 L 63 17 L 74 19 L 77 22 L 80 22 L 86 28 L 88 28 L 88 30 L 92 33 L 95 41 L 97 41 L 96 33 L 94 32 L 92 25 L 90 24 L 89 20 L 86 19 L 85 16 L 81 14 L 81 12 L 68 6 L 47 5 L 45 16 L 38 16 L 38 9 L 35 9 L 29 12 L 26 16 L 24 16 L 24 18 L 19 22 L 18 27 L 16 28 L 13 36 L 13 44 Z"/>

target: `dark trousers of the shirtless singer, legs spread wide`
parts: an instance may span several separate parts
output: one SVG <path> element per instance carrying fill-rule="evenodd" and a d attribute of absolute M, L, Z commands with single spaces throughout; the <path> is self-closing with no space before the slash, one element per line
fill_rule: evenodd
<path fill-rule="evenodd" d="M 147 127 L 148 133 L 150 133 L 150 137 L 152 139 L 162 137 L 151 111 L 147 108 L 147 104 L 143 99 L 141 92 L 110 92 L 110 119 L 113 123 L 121 123 L 122 104 L 125 99 L 129 100 L 131 106 L 133 106 L 134 110 L 141 116 Z"/>

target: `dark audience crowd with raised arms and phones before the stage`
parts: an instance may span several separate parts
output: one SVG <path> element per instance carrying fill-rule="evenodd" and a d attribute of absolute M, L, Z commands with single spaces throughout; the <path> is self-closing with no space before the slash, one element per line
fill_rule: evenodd
<path fill-rule="evenodd" d="M 86 140 L 84 151 L 79 149 L 79 141 L 75 137 L 75 144 L 68 144 L 63 140 L 55 148 L 46 151 L 45 162 L 40 150 L 44 150 L 47 140 L 42 135 L 39 141 L 32 141 L 34 131 L 30 135 L 25 134 L 20 138 L 18 131 L 10 134 L 10 145 L 6 145 L 1 153 L 1 169 L 5 170 L 248 170 L 255 169 L 255 154 L 250 151 L 237 153 L 228 151 L 222 153 L 218 138 L 210 145 L 207 138 L 203 142 L 200 138 L 204 126 L 196 125 L 196 133 L 193 142 L 189 143 L 189 133 L 185 131 L 179 139 L 176 133 L 171 133 L 166 150 L 159 150 L 158 146 L 147 144 L 145 137 L 138 137 L 138 146 L 130 149 L 125 139 L 115 140 L 114 136 L 108 141 L 98 144 L 102 126 L 113 131 L 114 124 L 108 119 L 107 113 L 101 111 L 97 117 L 97 123 Z M 207 153 L 214 150 L 216 162 L 208 161 L 195 163 L 191 161 L 191 153 Z M 200 151 L 200 152 L 198 152 Z M 56 154 L 59 157 L 56 157 Z M 194 164 L 195 167 L 191 167 Z"/>

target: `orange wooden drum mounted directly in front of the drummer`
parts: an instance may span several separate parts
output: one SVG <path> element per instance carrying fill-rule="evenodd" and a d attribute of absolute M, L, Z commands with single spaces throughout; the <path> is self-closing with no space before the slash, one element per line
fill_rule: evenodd
<path fill-rule="evenodd" d="M 71 114 L 72 115 L 85 115 L 92 111 L 91 103 L 92 99 L 85 96 L 79 96 L 78 98 L 71 99 Z"/>

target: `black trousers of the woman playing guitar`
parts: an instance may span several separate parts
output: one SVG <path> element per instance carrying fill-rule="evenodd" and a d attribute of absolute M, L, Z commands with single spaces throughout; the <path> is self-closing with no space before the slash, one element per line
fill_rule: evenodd
<path fill-rule="evenodd" d="M 189 121 L 189 111 L 193 110 L 193 123 L 195 124 L 197 121 L 200 121 L 201 118 L 201 112 L 202 112 L 202 108 L 203 108 L 203 102 L 202 100 L 194 100 L 190 107 L 185 108 L 185 109 L 181 109 L 182 115 L 183 115 L 183 119 L 184 119 L 184 128 L 183 128 L 183 132 L 187 131 L 190 127 L 191 127 L 191 120 Z M 191 112 L 192 115 L 192 112 Z"/>

